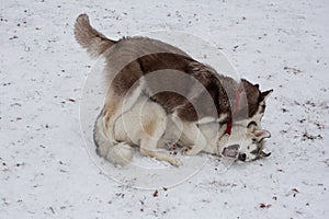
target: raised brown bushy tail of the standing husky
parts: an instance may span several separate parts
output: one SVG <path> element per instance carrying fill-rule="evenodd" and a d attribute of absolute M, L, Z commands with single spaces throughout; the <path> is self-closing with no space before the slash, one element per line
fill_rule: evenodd
<path fill-rule="evenodd" d="M 77 42 L 82 46 L 82 48 L 86 48 L 92 57 L 99 57 L 116 43 L 93 28 L 90 25 L 87 14 L 80 14 L 77 18 L 75 35 Z"/>

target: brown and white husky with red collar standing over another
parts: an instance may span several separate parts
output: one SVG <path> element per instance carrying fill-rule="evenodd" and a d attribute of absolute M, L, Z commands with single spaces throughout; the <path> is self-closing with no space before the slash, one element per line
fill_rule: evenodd
<path fill-rule="evenodd" d="M 147 37 L 113 41 L 94 30 L 87 14 L 75 25 L 77 42 L 93 56 L 102 56 L 109 82 L 105 105 L 99 117 L 109 141 L 115 142 L 114 124 L 129 111 L 140 95 L 146 95 L 181 123 L 185 139 L 194 142 L 186 154 L 207 147 L 202 124 L 230 123 L 261 127 L 265 99 L 272 90 L 261 92 L 258 84 L 235 81 L 218 74 L 181 49 Z M 191 45 L 193 46 L 193 45 Z M 197 136 L 196 140 L 193 140 Z"/>

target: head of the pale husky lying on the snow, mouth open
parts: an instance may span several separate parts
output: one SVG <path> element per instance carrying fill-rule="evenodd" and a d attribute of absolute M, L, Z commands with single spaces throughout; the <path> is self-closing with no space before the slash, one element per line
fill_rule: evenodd
<path fill-rule="evenodd" d="M 250 123 L 247 128 L 236 126 L 232 128 L 232 135 L 227 147 L 223 149 L 222 155 L 243 162 L 269 157 L 271 153 L 263 151 L 262 140 L 270 137 L 271 134 L 268 130 L 259 129 L 254 122 Z"/>

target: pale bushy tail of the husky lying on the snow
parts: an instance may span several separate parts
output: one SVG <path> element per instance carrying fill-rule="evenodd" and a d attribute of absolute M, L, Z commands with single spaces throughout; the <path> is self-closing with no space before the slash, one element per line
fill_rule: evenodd
<path fill-rule="evenodd" d="M 125 142 L 115 143 L 114 139 L 107 139 L 103 126 L 102 113 L 94 124 L 93 139 L 97 152 L 100 157 L 115 165 L 125 165 L 133 159 L 133 148 Z"/>

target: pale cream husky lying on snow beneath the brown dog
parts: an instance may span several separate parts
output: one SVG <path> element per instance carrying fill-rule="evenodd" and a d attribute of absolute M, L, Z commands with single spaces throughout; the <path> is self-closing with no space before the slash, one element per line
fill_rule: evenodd
<path fill-rule="evenodd" d="M 237 125 L 232 126 L 231 135 L 226 139 L 220 138 L 225 135 L 226 125 L 218 129 L 216 126 L 216 123 L 209 123 L 198 127 L 207 139 L 204 152 L 242 161 L 254 160 L 258 154 L 269 155 L 259 151 L 262 139 L 270 137 L 269 131 L 257 129 L 252 124 L 247 128 Z M 144 95 L 139 96 L 129 111 L 118 116 L 113 128 L 115 141 L 111 142 L 103 129 L 103 118 L 99 116 L 95 123 L 94 141 L 101 157 L 120 165 L 132 160 L 132 147 L 139 147 L 143 155 L 179 166 L 182 162 L 178 158 L 158 149 L 168 149 L 171 143 L 188 148 L 197 139 L 197 136 L 192 141 L 185 138 L 183 126 L 177 126 L 172 122 L 172 115 L 168 115 L 161 105 Z"/>

